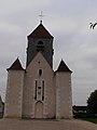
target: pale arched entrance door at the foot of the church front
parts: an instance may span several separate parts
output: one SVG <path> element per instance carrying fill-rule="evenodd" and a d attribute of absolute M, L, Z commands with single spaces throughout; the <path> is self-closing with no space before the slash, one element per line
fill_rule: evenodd
<path fill-rule="evenodd" d="M 42 119 L 43 118 L 43 103 L 42 102 L 37 102 L 36 104 L 36 117 L 37 119 Z"/>

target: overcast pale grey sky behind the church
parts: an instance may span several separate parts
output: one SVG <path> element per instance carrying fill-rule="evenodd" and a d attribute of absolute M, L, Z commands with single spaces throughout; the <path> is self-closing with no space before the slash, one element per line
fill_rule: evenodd
<path fill-rule="evenodd" d="M 19 56 L 25 66 L 27 35 L 43 25 L 54 36 L 54 69 L 61 58 L 73 72 L 73 104 L 84 105 L 97 89 L 97 0 L 0 0 L 0 94 L 4 100 L 6 68 Z"/>

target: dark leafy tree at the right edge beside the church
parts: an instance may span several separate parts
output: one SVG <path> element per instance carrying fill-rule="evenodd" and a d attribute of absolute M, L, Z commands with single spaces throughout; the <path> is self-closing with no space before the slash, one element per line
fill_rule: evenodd
<path fill-rule="evenodd" d="M 97 114 L 97 90 L 92 92 L 87 100 L 87 113 Z"/>

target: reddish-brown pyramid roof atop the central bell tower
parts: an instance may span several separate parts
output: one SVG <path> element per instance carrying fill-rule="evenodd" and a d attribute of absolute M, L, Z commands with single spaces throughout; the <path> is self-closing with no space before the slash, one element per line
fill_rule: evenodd
<path fill-rule="evenodd" d="M 48 38 L 54 37 L 46 30 L 46 28 L 40 23 L 40 25 L 28 36 L 28 38 Z"/>

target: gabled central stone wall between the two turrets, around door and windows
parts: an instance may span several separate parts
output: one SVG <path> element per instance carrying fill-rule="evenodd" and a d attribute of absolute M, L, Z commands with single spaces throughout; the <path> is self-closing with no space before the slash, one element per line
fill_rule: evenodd
<path fill-rule="evenodd" d="M 42 75 L 39 76 L 39 69 Z M 36 80 L 44 81 L 44 99 L 36 99 Z M 43 118 L 54 118 L 55 116 L 55 86 L 54 72 L 43 55 L 39 52 L 26 69 L 24 86 L 23 116 L 36 118 L 37 102 L 43 103 Z"/>

